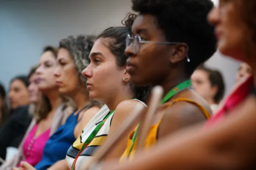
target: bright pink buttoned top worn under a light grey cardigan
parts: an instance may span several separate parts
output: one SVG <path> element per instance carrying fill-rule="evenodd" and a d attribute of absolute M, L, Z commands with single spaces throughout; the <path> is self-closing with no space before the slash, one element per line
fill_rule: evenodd
<path fill-rule="evenodd" d="M 38 124 L 36 124 L 31 131 L 28 133 L 28 136 L 26 137 L 24 144 L 23 144 L 23 153 L 25 155 L 25 160 L 30 165 L 35 166 L 43 156 L 44 151 L 44 145 L 49 139 L 51 128 L 44 131 L 41 135 L 38 137 L 35 137 L 36 129 L 38 127 Z M 19 166 L 20 167 L 20 164 Z"/>

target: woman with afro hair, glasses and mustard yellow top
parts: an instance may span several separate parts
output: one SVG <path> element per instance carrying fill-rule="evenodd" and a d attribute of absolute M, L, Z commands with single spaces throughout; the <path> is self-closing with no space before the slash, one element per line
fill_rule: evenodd
<path fill-rule="evenodd" d="M 134 85 L 164 88 L 145 150 L 176 130 L 210 118 L 212 110 L 192 88 L 190 77 L 216 50 L 213 27 L 206 19 L 212 7 L 211 0 L 132 0 L 139 15 L 127 36 L 127 71 Z M 121 161 L 133 158 L 139 128 L 129 135 Z"/>

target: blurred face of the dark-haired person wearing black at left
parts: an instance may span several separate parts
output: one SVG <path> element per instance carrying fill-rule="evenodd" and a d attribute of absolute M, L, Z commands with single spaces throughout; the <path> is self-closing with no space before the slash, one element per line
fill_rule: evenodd
<path fill-rule="evenodd" d="M 9 91 L 10 105 L 12 109 L 25 106 L 29 103 L 29 92 L 26 85 L 19 79 L 15 79 L 10 84 Z"/>

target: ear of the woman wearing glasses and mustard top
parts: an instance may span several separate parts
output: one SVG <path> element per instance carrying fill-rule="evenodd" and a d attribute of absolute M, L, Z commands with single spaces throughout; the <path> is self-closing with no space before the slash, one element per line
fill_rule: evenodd
<path fill-rule="evenodd" d="M 188 56 L 188 45 L 186 43 L 179 43 L 173 45 L 170 50 L 170 62 L 178 63 Z"/>

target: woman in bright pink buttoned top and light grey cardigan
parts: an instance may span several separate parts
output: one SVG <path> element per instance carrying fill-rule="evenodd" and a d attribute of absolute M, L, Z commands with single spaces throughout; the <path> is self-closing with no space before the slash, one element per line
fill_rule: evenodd
<path fill-rule="evenodd" d="M 36 165 L 42 159 L 46 141 L 63 124 L 65 115 L 71 112 L 67 99 L 59 95 L 56 78 L 53 76 L 57 66 L 54 57 L 57 52 L 57 48 L 46 47 L 40 58 L 40 66 L 32 68 L 29 73 L 29 111 L 33 120 L 19 146 L 18 154 L 5 162 L 1 170 L 20 166 L 20 161 Z"/>

